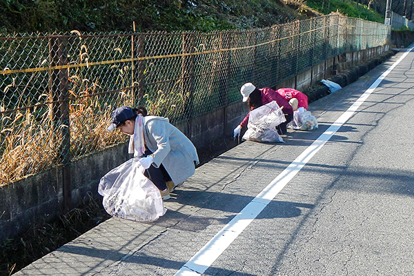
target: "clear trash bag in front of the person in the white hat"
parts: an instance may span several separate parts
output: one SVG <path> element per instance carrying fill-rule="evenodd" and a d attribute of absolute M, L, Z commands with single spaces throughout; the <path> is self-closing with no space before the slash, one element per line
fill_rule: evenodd
<path fill-rule="evenodd" d="M 286 121 L 282 111 L 283 106 L 279 107 L 276 101 L 270 101 L 264 106 L 250 111 L 248 117 L 247 130 L 242 139 L 257 142 L 284 142 L 277 133 L 276 127 Z"/>

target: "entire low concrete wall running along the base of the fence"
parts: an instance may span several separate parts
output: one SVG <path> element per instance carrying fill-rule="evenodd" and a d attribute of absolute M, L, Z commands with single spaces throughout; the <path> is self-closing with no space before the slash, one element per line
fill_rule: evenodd
<path fill-rule="evenodd" d="M 331 75 L 338 75 L 333 81 L 345 86 L 347 81 L 351 81 L 351 77 L 345 79 L 339 77 L 342 70 L 362 63 L 368 57 L 381 55 L 387 50 L 388 46 L 383 46 L 328 59 L 279 83 L 275 88 L 295 88 L 305 91 L 309 86 Z M 362 69 L 357 68 L 354 71 L 353 75 L 359 77 L 368 72 L 368 66 L 362 66 Z M 319 98 L 319 96 L 310 96 L 310 101 Z M 233 135 L 233 128 L 242 121 L 247 112 L 246 103 L 239 101 L 190 121 L 181 122 L 177 124 L 177 128 L 190 137 L 197 148 L 202 148 L 219 137 Z M 72 206 L 80 206 L 90 196 L 96 197 L 99 179 L 129 158 L 126 144 L 121 144 L 72 162 Z M 61 183 L 62 173 L 61 168 L 58 167 L 1 187 L 0 242 L 19 236 L 31 224 L 56 219 L 63 210 Z"/>

